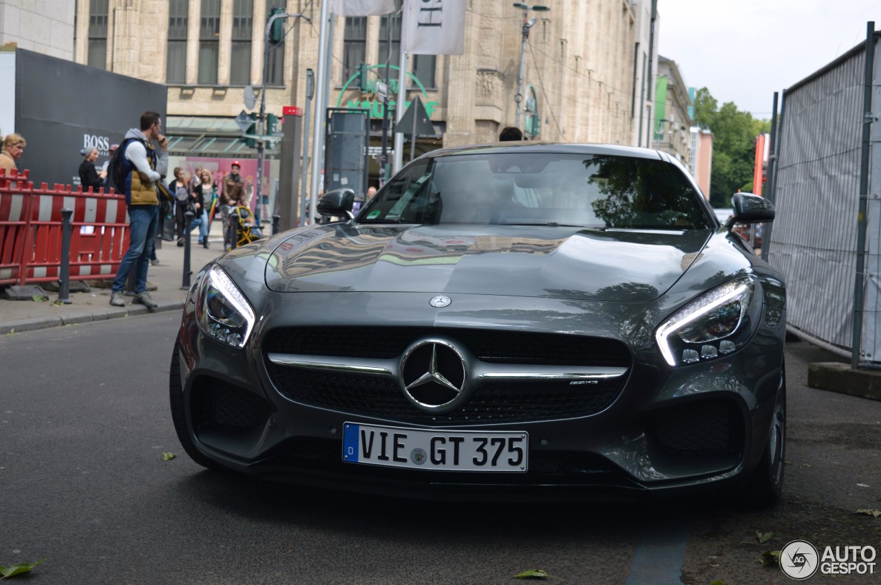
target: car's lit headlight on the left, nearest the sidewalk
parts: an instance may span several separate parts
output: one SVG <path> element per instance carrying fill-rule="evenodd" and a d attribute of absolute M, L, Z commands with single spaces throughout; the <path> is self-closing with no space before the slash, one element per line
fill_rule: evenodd
<path fill-rule="evenodd" d="M 245 347 L 255 322 L 241 290 L 218 267 L 211 267 L 202 279 L 196 317 L 202 333 L 236 349 Z"/>

